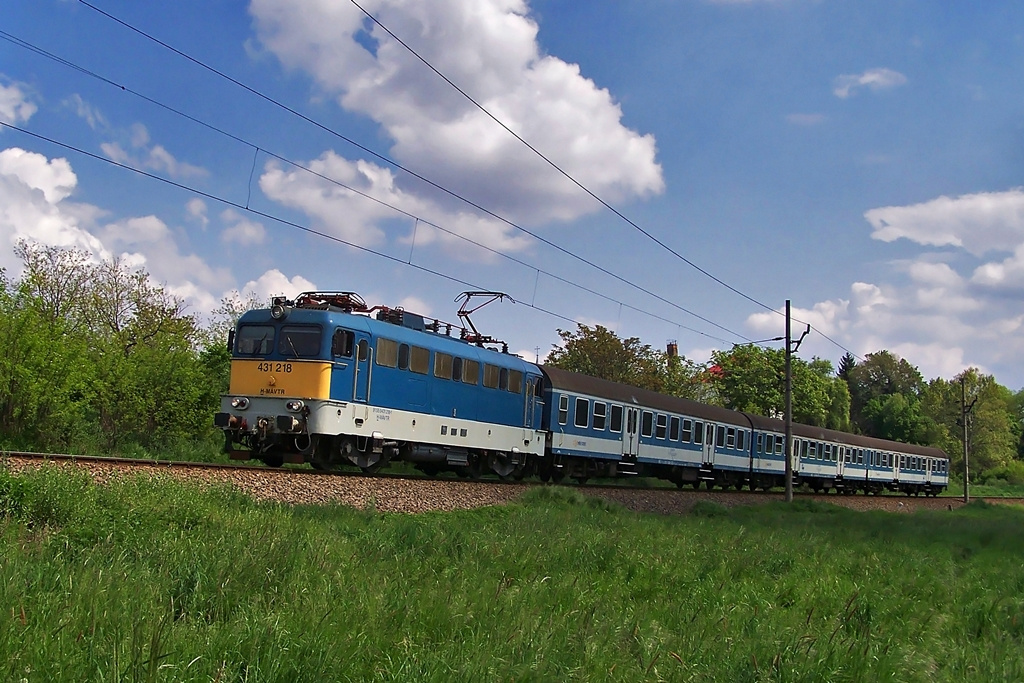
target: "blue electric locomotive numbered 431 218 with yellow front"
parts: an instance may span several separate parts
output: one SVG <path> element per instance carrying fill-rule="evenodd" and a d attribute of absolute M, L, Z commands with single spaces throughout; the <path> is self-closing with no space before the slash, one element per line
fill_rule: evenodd
<path fill-rule="evenodd" d="M 544 455 L 541 372 L 475 328 L 453 328 L 352 292 L 244 313 L 215 418 L 225 450 L 270 466 L 402 460 L 427 473 L 523 474 Z"/>

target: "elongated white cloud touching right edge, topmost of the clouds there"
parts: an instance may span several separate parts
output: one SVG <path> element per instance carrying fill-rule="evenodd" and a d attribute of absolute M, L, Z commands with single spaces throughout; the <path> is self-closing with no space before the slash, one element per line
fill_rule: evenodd
<path fill-rule="evenodd" d="M 1024 242 L 1024 189 L 939 197 L 864 214 L 883 242 L 900 238 L 933 247 L 959 247 L 975 256 L 1013 251 Z"/>

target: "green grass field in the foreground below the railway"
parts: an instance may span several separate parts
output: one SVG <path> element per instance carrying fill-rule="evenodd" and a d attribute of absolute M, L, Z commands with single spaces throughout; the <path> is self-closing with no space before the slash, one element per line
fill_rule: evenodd
<path fill-rule="evenodd" d="M 10 681 L 1024 680 L 1024 511 L 419 516 L 0 470 Z"/>

